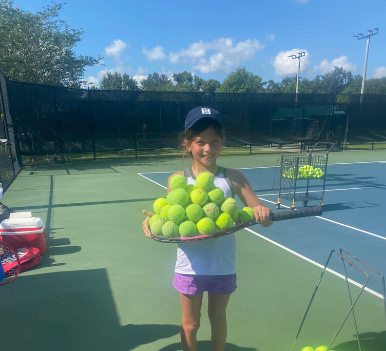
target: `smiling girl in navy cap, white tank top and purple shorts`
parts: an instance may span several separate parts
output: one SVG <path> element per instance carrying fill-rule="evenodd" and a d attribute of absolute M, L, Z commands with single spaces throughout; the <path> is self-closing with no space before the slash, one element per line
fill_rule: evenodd
<path fill-rule="evenodd" d="M 256 220 L 269 226 L 271 210 L 261 203 L 242 173 L 218 166 L 224 142 L 224 125 L 220 113 L 207 106 L 191 110 L 185 119 L 183 147 L 193 158 L 192 167 L 184 172 L 188 184 L 195 184 L 201 172 L 214 176 L 216 187 L 225 197 L 237 195 L 244 206 L 253 208 Z M 172 191 L 170 179 L 168 193 Z M 146 215 L 146 211 L 143 211 Z M 143 231 L 151 237 L 149 217 L 143 221 Z M 226 308 L 236 290 L 235 237 L 229 234 L 212 240 L 181 243 L 177 248 L 174 288 L 180 293 L 182 307 L 181 343 L 184 351 L 197 350 L 197 330 L 200 326 L 203 292 L 208 292 L 208 316 L 211 323 L 212 350 L 223 351 L 227 338 Z"/>

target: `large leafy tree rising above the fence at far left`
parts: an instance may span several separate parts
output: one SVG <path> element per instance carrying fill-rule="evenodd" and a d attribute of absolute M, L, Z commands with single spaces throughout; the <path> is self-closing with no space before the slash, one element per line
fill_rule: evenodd
<path fill-rule="evenodd" d="M 86 83 L 84 68 L 101 57 L 75 55 L 84 31 L 58 19 L 62 7 L 53 2 L 33 14 L 0 0 L 0 69 L 9 78 L 69 87 Z"/>

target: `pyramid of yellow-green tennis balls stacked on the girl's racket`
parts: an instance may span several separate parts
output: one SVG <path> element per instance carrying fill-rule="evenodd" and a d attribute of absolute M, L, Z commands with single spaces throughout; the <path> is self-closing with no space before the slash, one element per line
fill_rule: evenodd
<path fill-rule="evenodd" d="M 254 218 L 253 209 L 240 211 L 232 198 L 214 185 L 208 172 L 196 177 L 196 185 L 187 183 L 182 175 L 170 179 L 172 191 L 154 201 L 155 214 L 150 218 L 154 235 L 166 237 L 191 237 L 229 229 L 234 222 L 247 222 Z"/>

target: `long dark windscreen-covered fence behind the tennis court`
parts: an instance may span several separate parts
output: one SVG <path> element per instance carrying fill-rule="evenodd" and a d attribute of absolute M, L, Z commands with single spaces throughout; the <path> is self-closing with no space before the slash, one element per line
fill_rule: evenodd
<path fill-rule="evenodd" d="M 298 94 L 295 102 L 295 94 L 86 90 L 2 74 L 0 80 L 14 165 L 20 157 L 30 164 L 48 156 L 177 155 L 185 117 L 199 105 L 221 112 L 224 154 L 299 151 L 318 141 L 334 142 L 334 150 L 386 148 L 385 95 Z"/>

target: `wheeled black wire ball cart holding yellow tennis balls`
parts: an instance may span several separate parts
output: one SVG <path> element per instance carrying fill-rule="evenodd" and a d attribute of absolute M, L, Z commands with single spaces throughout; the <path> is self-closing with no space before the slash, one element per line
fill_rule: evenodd
<path fill-rule="evenodd" d="M 325 155 L 321 152 L 314 152 L 316 147 L 326 145 Z M 321 201 L 324 205 L 324 192 L 326 185 L 328 153 L 331 151 L 334 143 L 317 142 L 310 150 L 308 155 L 283 155 L 278 158 L 273 180 L 273 189 L 278 193 L 276 208 L 280 208 L 281 199 L 292 201 L 289 208 L 295 208 L 295 202 L 303 202 L 307 206 L 309 201 Z M 309 182 L 323 180 L 322 195 L 314 194 L 309 191 Z M 317 191 L 320 192 L 320 191 Z"/>

